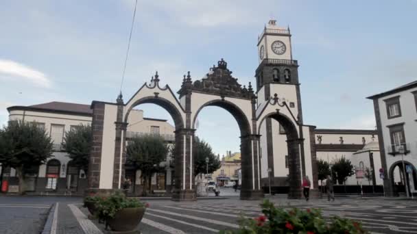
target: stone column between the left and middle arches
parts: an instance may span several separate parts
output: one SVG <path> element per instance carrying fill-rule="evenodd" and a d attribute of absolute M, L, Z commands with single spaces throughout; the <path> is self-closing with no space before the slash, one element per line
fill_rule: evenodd
<path fill-rule="evenodd" d="M 175 201 L 197 200 L 193 168 L 194 131 L 195 129 L 175 131 L 174 190 L 171 198 Z"/>

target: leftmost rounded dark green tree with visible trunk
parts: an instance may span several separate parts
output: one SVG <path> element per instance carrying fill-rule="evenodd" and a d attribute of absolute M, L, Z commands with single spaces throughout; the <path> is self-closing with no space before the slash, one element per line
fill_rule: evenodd
<path fill-rule="evenodd" d="M 25 171 L 45 164 L 52 156 L 52 140 L 34 122 L 10 121 L 0 131 L 0 163 L 19 177 L 19 193 L 25 193 Z"/>

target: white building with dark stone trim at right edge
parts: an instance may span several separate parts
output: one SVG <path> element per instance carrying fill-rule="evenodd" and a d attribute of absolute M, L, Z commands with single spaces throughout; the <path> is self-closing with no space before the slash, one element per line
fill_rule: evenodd
<path fill-rule="evenodd" d="M 374 101 L 386 194 L 405 191 L 405 181 L 417 192 L 417 81 L 368 99 Z"/>

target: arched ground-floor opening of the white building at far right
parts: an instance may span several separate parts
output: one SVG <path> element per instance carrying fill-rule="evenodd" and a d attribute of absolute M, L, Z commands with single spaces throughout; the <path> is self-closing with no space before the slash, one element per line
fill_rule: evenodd
<path fill-rule="evenodd" d="M 389 177 L 390 177 L 390 183 L 393 188 L 394 195 L 398 194 L 398 192 L 404 192 L 405 189 L 405 183 L 408 182 L 409 186 L 409 193 L 416 192 L 417 190 L 417 170 L 414 167 L 413 164 L 411 164 L 409 161 L 404 161 L 403 168 L 403 162 L 402 161 L 396 161 L 394 164 L 391 165 L 389 170 Z M 406 171 L 406 168 L 408 166 L 411 166 L 412 173 L 408 173 Z M 405 174 L 404 174 L 405 172 Z"/>

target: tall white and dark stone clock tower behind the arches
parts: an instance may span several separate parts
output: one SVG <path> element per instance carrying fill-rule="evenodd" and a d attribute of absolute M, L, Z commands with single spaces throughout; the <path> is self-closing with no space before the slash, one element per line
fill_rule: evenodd
<path fill-rule="evenodd" d="M 285 100 L 289 118 L 294 118 L 298 125 L 300 138 L 302 138 L 302 108 L 300 96 L 300 83 L 298 82 L 298 62 L 293 60 L 291 47 L 291 33 L 289 27 L 279 27 L 276 21 L 271 20 L 265 25 L 258 37 L 259 66 L 255 72 L 257 81 L 258 105 L 270 99 L 274 94 Z M 285 108 L 285 107 L 283 107 Z M 285 160 L 288 157 L 287 133 L 282 123 L 271 118 L 265 119 L 261 128 L 261 155 L 263 163 L 261 168 L 270 168 L 273 183 L 285 184 L 288 168 Z M 266 145 L 266 147 L 265 147 Z M 302 155 L 304 145 L 301 146 Z M 302 168 L 304 171 L 304 168 Z M 268 175 L 263 172 L 262 178 Z"/>

